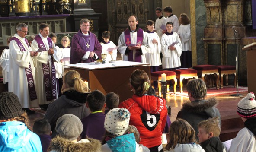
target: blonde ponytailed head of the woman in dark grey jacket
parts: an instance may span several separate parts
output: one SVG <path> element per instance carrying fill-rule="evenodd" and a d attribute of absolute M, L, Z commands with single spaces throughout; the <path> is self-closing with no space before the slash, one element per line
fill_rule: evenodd
<path fill-rule="evenodd" d="M 88 86 L 83 82 L 80 74 L 75 70 L 66 71 L 63 76 L 63 85 L 61 93 L 74 89 L 80 93 L 90 92 Z"/>

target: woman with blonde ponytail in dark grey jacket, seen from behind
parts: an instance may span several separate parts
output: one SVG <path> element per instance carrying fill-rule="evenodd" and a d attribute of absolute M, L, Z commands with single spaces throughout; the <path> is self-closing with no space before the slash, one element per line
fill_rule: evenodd
<path fill-rule="evenodd" d="M 90 90 L 77 71 L 69 70 L 63 77 L 62 96 L 49 104 L 45 118 L 51 124 L 52 138 L 56 136 L 56 122 L 63 114 L 74 114 L 82 119 L 90 114 L 86 108 Z"/>

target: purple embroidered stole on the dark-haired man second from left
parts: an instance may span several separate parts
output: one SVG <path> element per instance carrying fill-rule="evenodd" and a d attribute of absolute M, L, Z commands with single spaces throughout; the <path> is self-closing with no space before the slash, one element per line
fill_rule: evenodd
<path fill-rule="evenodd" d="M 45 47 L 45 44 L 39 35 L 35 36 L 35 41 L 37 42 L 39 48 Z M 51 38 L 47 37 L 47 41 L 49 44 L 49 49 L 52 48 Z M 45 51 L 47 50 L 45 49 Z M 42 66 L 43 66 L 43 73 L 44 73 L 46 101 L 51 101 L 57 98 L 56 73 L 55 73 L 55 66 L 54 66 L 54 61 L 52 56 L 51 56 L 51 71 L 49 68 L 48 61 L 46 64 L 42 63 Z"/>

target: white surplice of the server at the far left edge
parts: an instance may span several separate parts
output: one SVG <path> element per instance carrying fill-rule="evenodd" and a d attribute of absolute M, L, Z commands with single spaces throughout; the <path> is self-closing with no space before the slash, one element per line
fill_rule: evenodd
<path fill-rule="evenodd" d="M 8 82 L 8 72 L 9 72 L 9 49 L 4 49 L 0 57 L 0 65 L 2 67 L 3 74 L 3 84 Z"/>

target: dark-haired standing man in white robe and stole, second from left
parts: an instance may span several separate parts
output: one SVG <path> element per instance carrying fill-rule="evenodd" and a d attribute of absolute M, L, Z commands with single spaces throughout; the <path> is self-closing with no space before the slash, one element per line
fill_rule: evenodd
<path fill-rule="evenodd" d="M 40 108 L 46 110 L 48 104 L 54 101 L 57 96 L 55 62 L 60 62 L 56 56 L 57 48 L 48 37 L 49 25 L 42 23 L 39 25 L 40 34 L 35 36 L 31 43 L 32 51 L 38 51 L 39 48 L 45 48 L 38 53 L 37 64 L 35 66 L 36 92 Z"/>

